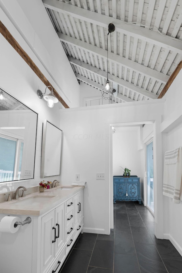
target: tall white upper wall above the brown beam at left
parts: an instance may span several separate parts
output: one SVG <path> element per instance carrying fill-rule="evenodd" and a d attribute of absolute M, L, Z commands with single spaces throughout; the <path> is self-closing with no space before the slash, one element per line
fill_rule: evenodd
<path fill-rule="evenodd" d="M 42 1 L 0 0 L 0 17 L 68 106 L 78 107 L 78 81 Z M 9 58 L 8 62 L 12 61 Z M 32 86 L 34 91 L 46 88 L 33 81 Z"/>

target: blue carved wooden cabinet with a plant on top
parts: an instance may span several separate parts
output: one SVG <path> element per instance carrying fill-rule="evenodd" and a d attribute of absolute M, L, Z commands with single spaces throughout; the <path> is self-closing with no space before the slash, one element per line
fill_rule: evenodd
<path fill-rule="evenodd" d="M 140 177 L 132 175 L 123 177 L 121 175 L 113 176 L 113 200 L 138 201 L 141 204 L 140 197 Z"/>

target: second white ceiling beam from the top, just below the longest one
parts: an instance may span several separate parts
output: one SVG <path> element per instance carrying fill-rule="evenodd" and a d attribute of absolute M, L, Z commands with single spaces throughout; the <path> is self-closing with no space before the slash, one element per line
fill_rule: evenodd
<path fill-rule="evenodd" d="M 59 36 L 59 39 L 65 43 L 78 46 L 79 48 L 82 48 L 82 49 L 89 51 L 93 54 L 97 54 L 98 56 L 100 56 L 102 58 L 107 58 L 107 50 L 104 50 L 104 49 L 99 48 L 94 45 L 90 45 L 86 42 L 83 42 L 83 41 L 80 41 L 80 40 L 75 39 L 73 37 L 67 36 L 63 33 L 57 33 L 57 34 Z M 164 84 L 166 84 L 166 82 L 169 79 L 169 76 L 164 75 L 161 72 L 158 72 L 154 69 L 143 66 L 142 64 L 138 64 L 137 62 L 126 59 L 126 58 L 119 56 L 117 54 L 114 54 L 112 52 L 108 52 L 108 59 L 113 62 L 118 63 L 119 65 L 125 66 L 131 70 L 137 71 L 140 74 L 146 75 L 154 80 L 160 81 Z"/>

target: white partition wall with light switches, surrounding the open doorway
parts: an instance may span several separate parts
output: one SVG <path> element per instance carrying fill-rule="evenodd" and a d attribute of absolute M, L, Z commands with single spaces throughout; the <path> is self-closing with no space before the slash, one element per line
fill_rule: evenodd
<path fill-rule="evenodd" d="M 61 129 L 63 130 L 63 166 L 61 181 L 69 185 L 80 174 L 81 181 L 87 181 L 84 189 L 84 232 L 110 232 L 110 201 L 113 196 L 110 188 L 110 124 L 143 124 L 154 121 L 156 141 L 156 234 L 163 236 L 162 219 L 162 158 L 160 123 L 164 101 L 135 102 L 109 106 L 67 109 L 61 111 Z M 105 180 L 96 180 L 96 173 L 105 173 Z M 162 222 L 162 224 L 161 224 Z M 112 223 L 111 223 L 112 226 Z"/>

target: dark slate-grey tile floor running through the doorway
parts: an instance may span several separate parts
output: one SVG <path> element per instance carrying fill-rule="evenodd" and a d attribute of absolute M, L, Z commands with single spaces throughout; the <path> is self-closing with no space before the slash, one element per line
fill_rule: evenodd
<path fill-rule="evenodd" d="M 154 217 L 138 202 L 114 204 L 110 235 L 83 233 L 59 273 L 181 273 L 182 257 L 154 236 Z"/>

